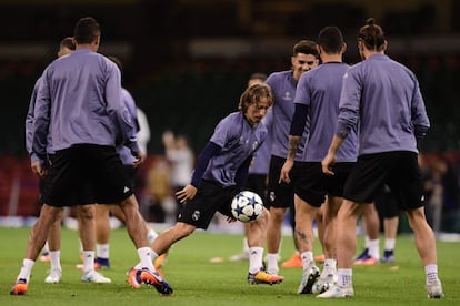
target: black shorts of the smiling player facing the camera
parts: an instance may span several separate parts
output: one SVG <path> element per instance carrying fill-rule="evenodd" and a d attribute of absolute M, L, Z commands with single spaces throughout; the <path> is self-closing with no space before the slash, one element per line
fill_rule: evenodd
<path fill-rule="evenodd" d="M 270 160 L 270 171 L 269 171 L 269 206 L 279 207 L 279 208 L 293 208 L 293 195 L 294 195 L 294 184 L 293 182 L 298 177 L 298 167 L 294 165 L 292 171 L 289 173 L 291 182 L 279 183 L 282 165 L 284 164 L 286 159 L 271 156 Z M 297 164 L 297 162 L 294 163 Z"/>

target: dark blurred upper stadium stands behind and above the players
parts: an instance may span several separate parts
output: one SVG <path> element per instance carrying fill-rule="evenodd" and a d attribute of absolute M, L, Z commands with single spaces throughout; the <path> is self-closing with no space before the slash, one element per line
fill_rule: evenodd
<path fill-rule="evenodd" d="M 369 17 L 387 33 L 387 53 L 419 78 L 432 121 L 421 149 L 460 147 L 460 1 L 11 0 L 0 1 L 0 154 L 26 155 L 33 83 L 86 16 L 102 28 L 100 52 L 124 63 L 124 86 L 149 119 L 150 153 L 162 153 L 168 129 L 199 152 L 237 110 L 248 76 L 289 69 L 292 45 L 326 26 L 342 30 L 346 61 L 357 62 L 356 35 Z"/>

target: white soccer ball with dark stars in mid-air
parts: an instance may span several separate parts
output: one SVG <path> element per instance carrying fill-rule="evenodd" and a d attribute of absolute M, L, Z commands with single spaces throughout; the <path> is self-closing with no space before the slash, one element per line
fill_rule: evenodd
<path fill-rule="evenodd" d="M 242 191 L 231 202 L 231 213 L 236 220 L 252 222 L 258 220 L 263 212 L 262 198 L 257 193 Z"/>

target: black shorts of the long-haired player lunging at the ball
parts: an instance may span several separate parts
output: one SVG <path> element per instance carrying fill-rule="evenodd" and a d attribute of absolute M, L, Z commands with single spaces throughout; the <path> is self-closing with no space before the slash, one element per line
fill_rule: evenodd
<path fill-rule="evenodd" d="M 196 196 L 183 206 L 178 222 L 207 230 L 216 212 L 233 217 L 231 201 L 239 192 L 237 186 L 222 187 L 214 182 L 203 180 Z"/>

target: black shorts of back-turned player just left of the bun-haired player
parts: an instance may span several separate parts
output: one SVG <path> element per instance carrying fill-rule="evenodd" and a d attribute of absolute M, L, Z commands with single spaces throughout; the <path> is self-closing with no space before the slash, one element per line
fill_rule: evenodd
<path fill-rule="evenodd" d="M 322 172 L 320 162 L 298 163 L 301 175 L 294 182 L 294 193 L 301 200 L 314 207 L 320 207 L 326 195 L 343 196 L 343 186 L 354 163 L 337 163 L 333 165 L 333 176 Z"/>

